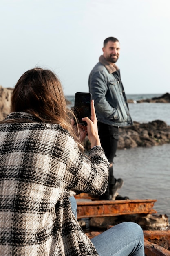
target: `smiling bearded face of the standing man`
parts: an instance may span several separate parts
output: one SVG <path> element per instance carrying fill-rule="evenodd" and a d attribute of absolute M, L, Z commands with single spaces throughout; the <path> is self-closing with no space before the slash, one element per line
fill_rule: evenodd
<path fill-rule="evenodd" d="M 106 58 L 106 60 L 110 64 L 113 64 L 119 58 L 120 44 L 119 44 L 119 42 L 108 41 L 108 43 L 105 45 L 105 47 L 102 48 L 102 50 L 103 50 L 104 58 Z"/>

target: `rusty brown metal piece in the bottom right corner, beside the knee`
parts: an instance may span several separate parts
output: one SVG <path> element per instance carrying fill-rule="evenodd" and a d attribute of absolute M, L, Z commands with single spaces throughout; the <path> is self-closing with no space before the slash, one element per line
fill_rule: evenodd
<path fill-rule="evenodd" d="M 157 244 L 150 243 L 146 239 L 144 239 L 144 247 L 146 256 L 170 256 L 170 251 Z"/>

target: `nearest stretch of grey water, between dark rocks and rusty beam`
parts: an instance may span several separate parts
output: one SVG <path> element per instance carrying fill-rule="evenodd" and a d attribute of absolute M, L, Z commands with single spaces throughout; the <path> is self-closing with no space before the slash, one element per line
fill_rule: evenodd
<path fill-rule="evenodd" d="M 170 144 L 117 150 L 114 175 L 124 180 L 119 190 L 130 199 L 156 199 L 153 209 L 170 221 Z"/>

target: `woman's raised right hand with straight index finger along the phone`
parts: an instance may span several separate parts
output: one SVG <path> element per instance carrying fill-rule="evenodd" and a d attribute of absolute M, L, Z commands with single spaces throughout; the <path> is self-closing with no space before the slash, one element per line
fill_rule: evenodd
<path fill-rule="evenodd" d="M 91 148 L 94 146 L 101 146 L 99 135 L 98 135 L 98 128 L 97 128 L 97 117 L 95 113 L 95 106 L 94 100 L 91 101 L 91 119 L 88 117 L 82 118 L 82 121 L 86 121 L 87 123 L 87 134 L 88 139 L 91 143 Z M 86 126 L 83 126 L 86 127 Z"/>

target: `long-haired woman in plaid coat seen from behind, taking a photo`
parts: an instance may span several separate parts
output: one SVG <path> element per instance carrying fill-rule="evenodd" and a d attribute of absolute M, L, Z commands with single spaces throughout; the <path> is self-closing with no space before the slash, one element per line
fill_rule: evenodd
<path fill-rule="evenodd" d="M 92 243 L 72 213 L 69 198 L 76 193 L 104 193 L 109 163 L 93 101 L 91 120 L 82 119 L 87 127 L 77 128 L 71 115 L 50 70 L 28 70 L 15 85 L 11 113 L 0 123 L 0 255 L 144 255 L 139 225 L 117 225 Z M 81 144 L 86 133 L 88 159 Z"/>

